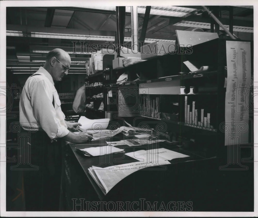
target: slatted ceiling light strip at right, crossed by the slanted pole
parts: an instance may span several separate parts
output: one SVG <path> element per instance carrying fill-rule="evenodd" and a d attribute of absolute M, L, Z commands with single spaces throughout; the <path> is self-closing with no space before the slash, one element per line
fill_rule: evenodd
<path fill-rule="evenodd" d="M 195 28 L 199 27 L 199 28 L 204 28 L 204 29 L 211 29 L 211 24 L 210 23 L 184 21 L 184 20 L 182 20 L 179 23 L 175 23 L 174 25 L 175 26 L 183 26 L 183 27 L 195 27 Z M 224 25 L 224 26 L 229 29 L 229 25 Z M 223 29 L 220 27 L 220 30 L 223 30 Z M 233 26 L 233 31 L 253 33 L 254 28 L 253 27 Z"/>

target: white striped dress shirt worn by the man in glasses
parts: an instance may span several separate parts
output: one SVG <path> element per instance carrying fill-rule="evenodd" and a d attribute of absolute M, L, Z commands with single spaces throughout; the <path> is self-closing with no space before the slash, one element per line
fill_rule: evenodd
<path fill-rule="evenodd" d="M 44 130 L 50 139 L 66 136 L 69 130 L 53 78 L 43 67 L 35 74 L 40 75 L 29 77 L 21 93 L 20 124 L 25 130 Z"/>

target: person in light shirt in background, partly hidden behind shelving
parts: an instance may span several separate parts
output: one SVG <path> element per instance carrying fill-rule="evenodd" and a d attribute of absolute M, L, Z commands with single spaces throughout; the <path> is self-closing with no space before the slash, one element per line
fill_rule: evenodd
<path fill-rule="evenodd" d="M 76 114 L 81 116 L 86 116 L 85 113 L 85 85 L 80 87 L 75 95 L 74 103 L 72 104 L 72 109 Z"/>

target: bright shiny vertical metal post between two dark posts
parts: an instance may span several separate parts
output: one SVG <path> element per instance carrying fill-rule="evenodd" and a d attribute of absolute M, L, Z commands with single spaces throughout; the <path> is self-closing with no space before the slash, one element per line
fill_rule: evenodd
<path fill-rule="evenodd" d="M 131 6 L 132 50 L 138 51 L 138 12 L 137 6 Z"/>

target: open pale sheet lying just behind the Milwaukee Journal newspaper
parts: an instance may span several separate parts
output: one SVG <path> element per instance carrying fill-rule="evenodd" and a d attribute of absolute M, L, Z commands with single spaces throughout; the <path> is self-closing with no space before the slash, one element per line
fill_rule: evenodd
<path fill-rule="evenodd" d="M 154 163 L 157 162 L 157 160 L 172 160 L 175 158 L 189 157 L 188 155 L 171 151 L 166 148 L 134 151 L 126 153 L 125 155 L 139 161 L 150 161 Z"/>

